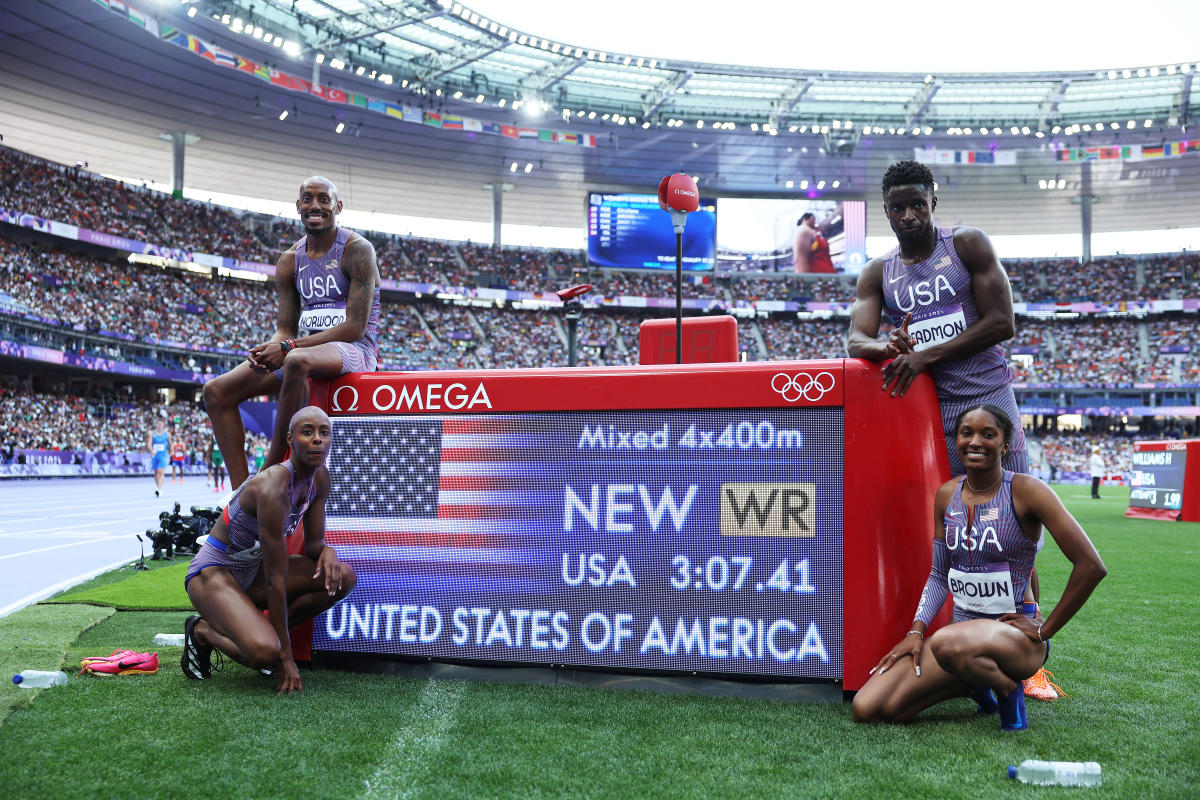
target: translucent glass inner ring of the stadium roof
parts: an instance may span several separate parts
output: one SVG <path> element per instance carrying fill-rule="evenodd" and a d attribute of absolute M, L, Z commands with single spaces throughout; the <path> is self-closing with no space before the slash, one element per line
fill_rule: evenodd
<path fill-rule="evenodd" d="M 1123 131 L 1182 127 L 1198 110 L 1195 60 L 1012 73 L 794 70 L 598 50 L 586 42 L 510 29 L 503 18 L 454 0 L 193 5 L 236 32 L 282 37 L 298 59 L 316 61 L 326 73 L 374 76 L 422 98 L 516 107 L 532 119 L 590 118 L 647 128 L 816 128 L 835 138 L 841 132 L 844 139 L 864 133 L 958 136 L 978 128 L 997 136 L 1087 139 L 1093 131 L 1116 130 L 1114 124 Z M 978 23 L 974 29 L 976 36 L 986 35 Z M 1010 49 L 1019 54 L 1021 48 Z"/>

